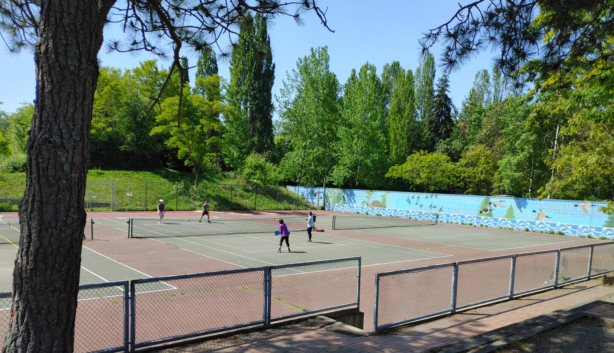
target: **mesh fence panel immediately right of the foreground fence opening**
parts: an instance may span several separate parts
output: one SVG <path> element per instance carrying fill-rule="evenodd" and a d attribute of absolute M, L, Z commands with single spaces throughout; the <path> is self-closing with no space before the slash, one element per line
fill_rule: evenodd
<path fill-rule="evenodd" d="M 375 329 L 451 311 L 453 265 L 379 273 Z"/>

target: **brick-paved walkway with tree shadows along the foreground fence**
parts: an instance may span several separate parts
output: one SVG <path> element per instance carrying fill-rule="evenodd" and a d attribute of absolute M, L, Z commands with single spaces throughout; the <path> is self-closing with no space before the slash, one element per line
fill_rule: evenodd
<path fill-rule="evenodd" d="M 600 280 L 593 280 L 381 333 L 349 330 L 326 319 L 313 318 L 294 325 L 165 349 L 160 353 L 445 351 L 442 346 L 611 296 L 614 296 L 614 287 L 603 287 Z M 600 304 L 585 312 L 614 318 L 614 305 Z"/>

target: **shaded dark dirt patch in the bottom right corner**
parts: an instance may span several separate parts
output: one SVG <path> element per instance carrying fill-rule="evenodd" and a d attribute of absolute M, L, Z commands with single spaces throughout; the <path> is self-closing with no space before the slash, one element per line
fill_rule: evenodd
<path fill-rule="evenodd" d="M 496 353 L 614 352 L 614 322 L 581 317 L 568 324 L 516 341 Z"/>

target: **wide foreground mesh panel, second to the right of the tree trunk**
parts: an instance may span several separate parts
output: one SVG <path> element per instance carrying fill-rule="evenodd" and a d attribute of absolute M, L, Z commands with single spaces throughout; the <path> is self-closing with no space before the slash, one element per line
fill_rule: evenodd
<path fill-rule="evenodd" d="M 131 282 L 134 347 L 263 324 L 264 271 L 247 268 Z"/>

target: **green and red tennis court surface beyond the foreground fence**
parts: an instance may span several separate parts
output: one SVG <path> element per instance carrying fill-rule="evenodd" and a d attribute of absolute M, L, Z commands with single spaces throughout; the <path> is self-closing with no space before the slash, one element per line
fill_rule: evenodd
<path fill-rule="evenodd" d="M 88 213 L 80 284 L 109 283 L 159 276 L 297 264 L 317 260 L 362 258 L 360 308 L 365 328 L 373 322 L 375 275 L 427 265 L 521 252 L 586 245 L 602 241 L 561 235 L 437 224 L 430 216 L 406 219 L 315 211 L 316 227 L 308 243 L 306 211 L 212 212 L 211 223 L 198 222 L 194 211 L 168 212 L 158 223 L 149 212 Z M 335 228 L 333 227 L 333 216 Z M 9 218 L 14 220 L 9 220 Z M 93 219 L 93 225 L 89 219 Z M 274 235 L 279 218 L 286 221 L 292 252 Z M 418 219 L 415 219 L 418 218 Z M 132 220 L 129 229 L 129 221 Z M 17 214 L 5 214 L 0 235 L 18 229 Z M 11 226 L 5 224 L 11 223 Z M 93 240 L 90 239 L 93 230 Z M 0 238 L 1 239 L 1 238 Z M 18 243 L 0 241 L 0 292 L 9 292 Z M 111 289 L 109 289 L 111 288 Z M 121 295 L 121 287 L 117 293 Z M 173 293 L 172 283 L 148 287 L 152 295 Z M 179 289 L 181 292 L 181 289 Z M 100 297 L 80 294 L 82 300 Z M 331 293 L 331 295 L 335 295 Z"/>

